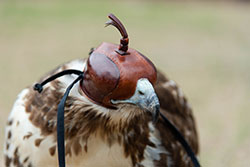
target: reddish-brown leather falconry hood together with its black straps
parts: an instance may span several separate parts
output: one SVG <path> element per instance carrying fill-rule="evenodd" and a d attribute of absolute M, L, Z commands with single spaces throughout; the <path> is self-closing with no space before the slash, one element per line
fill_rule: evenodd
<path fill-rule="evenodd" d="M 111 20 L 106 25 L 115 26 L 121 33 L 120 45 L 102 43 L 87 60 L 82 71 L 67 69 L 58 72 L 41 83 L 34 85 L 34 90 L 41 93 L 43 86 L 64 75 L 75 74 L 78 77 L 67 87 L 57 107 L 57 152 L 60 167 L 65 167 L 65 137 L 64 137 L 64 108 L 67 97 L 73 86 L 80 81 L 80 88 L 89 99 L 107 108 L 115 109 L 112 100 L 125 100 L 130 98 L 136 90 L 137 81 L 147 78 L 152 85 L 157 79 L 156 68 L 153 63 L 138 51 L 128 48 L 128 34 L 126 29 L 114 15 L 108 16 Z M 159 106 L 158 106 L 159 107 Z M 156 110 L 159 108 L 156 107 Z M 159 111 L 158 111 L 159 112 Z M 159 112 L 165 125 L 182 144 L 195 167 L 200 167 L 191 147 L 179 130 Z"/>

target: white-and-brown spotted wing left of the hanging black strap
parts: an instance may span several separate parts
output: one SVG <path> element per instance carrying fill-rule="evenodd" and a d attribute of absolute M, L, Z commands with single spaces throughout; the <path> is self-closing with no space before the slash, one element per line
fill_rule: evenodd
<path fill-rule="evenodd" d="M 65 69 L 83 70 L 84 65 L 85 60 L 73 60 L 62 64 L 42 77 L 39 83 Z M 45 85 L 41 93 L 35 92 L 33 87 L 29 86 L 18 95 L 6 126 L 4 147 L 6 167 L 58 166 L 57 106 L 66 87 L 75 77 L 67 75 L 58 78 Z M 68 148 L 66 147 L 66 154 L 70 152 Z"/>

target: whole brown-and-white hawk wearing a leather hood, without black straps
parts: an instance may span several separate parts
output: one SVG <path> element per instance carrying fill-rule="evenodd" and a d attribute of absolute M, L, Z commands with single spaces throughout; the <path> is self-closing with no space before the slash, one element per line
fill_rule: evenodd
<path fill-rule="evenodd" d="M 113 15 L 110 18 L 114 18 Z M 164 120 L 161 117 L 154 120 L 157 119 L 156 107 L 160 104 L 161 114 L 174 124 L 197 155 L 199 142 L 196 124 L 187 99 L 178 85 L 156 70 L 150 60 L 126 48 L 128 40 L 125 30 L 117 22 L 113 19 L 107 24 L 123 32 L 125 38 L 120 46 L 103 43 L 90 53 L 88 59 L 60 65 L 39 81 L 67 69 L 85 72 L 85 77 L 73 86 L 65 103 L 66 165 L 193 166 Z M 112 50 L 116 46 L 119 49 Z M 119 60 L 122 61 L 106 56 L 110 50 L 113 56 L 120 56 Z M 130 62 L 126 64 L 133 54 L 139 59 L 139 63 L 133 60 L 135 63 L 132 65 L 138 67 L 135 69 Z M 141 61 L 144 64 L 141 65 Z M 152 70 L 153 73 L 150 73 Z M 21 91 L 6 125 L 6 167 L 58 166 L 57 108 L 66 88 L 76 78 L 74 74 L 64 75 L 46 84 L 41 93 L 34 91 L 32 86 Z"/>

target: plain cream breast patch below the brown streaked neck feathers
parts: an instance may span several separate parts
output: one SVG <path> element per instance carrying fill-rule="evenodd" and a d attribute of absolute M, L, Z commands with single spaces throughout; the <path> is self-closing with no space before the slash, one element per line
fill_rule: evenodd
<path fill-rule="evenodd" d="M 84 167 L 130 167 L 132 161 L 124 154 L 124 147 L 119 143 L 108 145 L 100 138 L 92 137 L 83 143 L 78 154 L 73 153 L 66 157 L 68 166 Z M 74 149 L 73 147 L 71 149 Z M 74 150 L 71 150 L 74 152 Z"/>

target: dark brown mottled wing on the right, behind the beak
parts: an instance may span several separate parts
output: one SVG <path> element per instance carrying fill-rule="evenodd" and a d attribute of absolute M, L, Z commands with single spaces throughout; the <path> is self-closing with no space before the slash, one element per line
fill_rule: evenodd
<path fill-rule="evenodd" d="M 191 146 L 195 154 L 199 151 L 198 135 L 196 130 L 196 124 L 193 117 L 192 109 L 185 98 L 182 90 L 173 81 L 165 77 L 158 71 L 158 79 L 155 85 L 155 91 L 158 95 L 161 113 L 163 113 L 182 133 L 188 144 Z M 157 124 L 157 129 L 160 132 L 161 140 L 165 148 L 170 151 L 174 159 L 182 157 L 185 164 L 176 164 L 177 166 L 184 166 L 192 164 L 190 159 L 187 158 L 185 150 L 181 144 L 171 133 L 170 129 L 164 125 L 162 119 Z M 173 151 L 171 151 L 173 150 Z M 179 150 L 179 151 L 178 151 Z M 174 162 L 177 162 L 174 160 Z"/>

